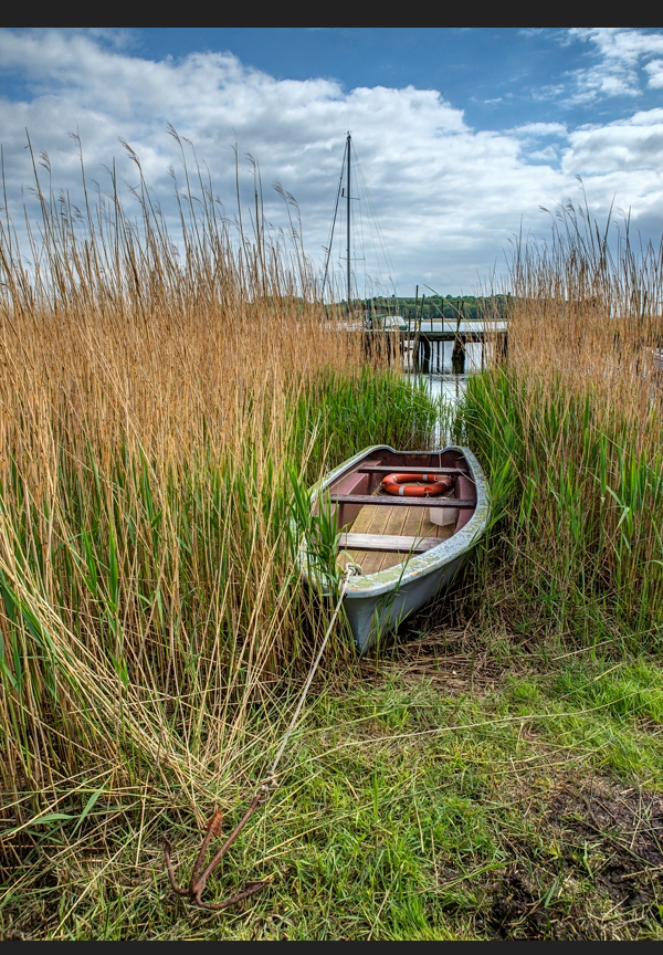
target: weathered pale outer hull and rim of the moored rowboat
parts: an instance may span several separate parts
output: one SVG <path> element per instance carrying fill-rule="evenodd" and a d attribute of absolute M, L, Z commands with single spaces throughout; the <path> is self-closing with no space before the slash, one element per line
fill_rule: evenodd
<path fill-rule="evenodd" d="M 400 623 L 440 594 L 455 577 L 467 559 L 472 548 L 482 537 L 488 521 L 487 486 L 482 469 L 467 448 L 450 445 L 441 452 L 422 452 L 430 455 L 430 466 L 434 470 L 433 458 L 462 463 L 466 476 L 457 480 L 462 486 L 472 487 L 474 506 L 470 511 L 459 511 L 456 528 L 446 539 L 441 539 L 425 553 L 404 555 L 401 563 L 373 574 L 356 574 L 350 577 L 344 597 L 344 608 L 352 631 L 355 644 L 360 653 L 366 653 L 376 644 L 385 642 Z M 413 452 L 398 452 L 388 445 L 375 445 L 344 462 L 328 474 L 312 491 L 312 504 L 335 489 L 350 487 L 358 481 L 361 465 L 366 461 L 385 460 L 398 470 L 399 461 L 413 461 Z M 376 469 L 373 469 L 376 470 Z M 375 481 L 376 479 L 373 479 Z M 339 499 L 343 495 L 339 495 Z M 330 497 L 330 500 L 334 500 Z M 336 505 L 338 507 L 338 504 Z M 355 506 L 348 503 L 347 507 Z M 348 513 L 349 510 L 348 510 Z M 432 542 L 431 542 L 432 543 Z M 398 558 L 400 559 L 400 558 Z M 312 583 L 332 592 L 328 579 L 322 575 L 305 571 Z"/>

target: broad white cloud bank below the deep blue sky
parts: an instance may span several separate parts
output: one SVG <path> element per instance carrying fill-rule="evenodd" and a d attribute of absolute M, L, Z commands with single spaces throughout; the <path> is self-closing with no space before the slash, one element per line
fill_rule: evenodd
<path fill-rule="evenodd" d="M 284 227 L 285 210 L 269 183 L 278 178 L 299 203 L 307 251 L 317 260 L 328 239 L 350 129 L 402 294 L 421 276 L 440 291 L 471 291 L 501 261 L 522 219 L 525 228 L 536 230 L 539 206 L 577 193 L 576 172 L 589 177 L 586 186 L 599 216 L 614 191 L 622 204 L 635 203 L 642 214 L 650 208 L 648 196 L 651 208 L 660 201 L 661 111 L 571 134 L 561 123 L 545 122 L 488 133 L 471 129 L 463 111 L 435 91 L 376 86 L 344 93 L 324 78 L 277 81 L 229 53 L 151 62 L 124 52 L 125 39 L 80 31 L 0 31 L 0 64 L 29 91 L 21 102 L 0 99 L 0 137 L 17 220 L 22 186 L 30 181 L 25 128 L 35 151 L 49 153 L 54 188 L 74 195 L 80 161 L 69 134 L 80 132 L 88 178 L 104 190 L 104 166 L 114 157 L 120 178 L 137 181 L 118 143 L 124 138 L 168 210 L 168 168 L 181 168 L 168 124 L 193 144 L 229 213 L 235 196 L 235 143 L 245 197 L 252 200 L 251 171 L 243 159 L 251 154 L 260 164 L 267 216 L 276 228 Z M 598 43 L 594 34 L 590 39 Z M 529 158 L 523 153 L 528 138 L 539 147 L 539 137 L 567 135 L 561 169 L 552 147 Z"/>

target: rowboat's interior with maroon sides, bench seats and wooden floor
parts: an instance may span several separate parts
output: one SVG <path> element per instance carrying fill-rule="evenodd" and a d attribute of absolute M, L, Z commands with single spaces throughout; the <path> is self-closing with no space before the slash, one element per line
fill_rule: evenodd
<path fill-rule="evenodd" d="M 393 472 L 445 475 L 453 487 L 440 496 L 394 496 L 381 481 Z M 417 482 L 413 479 L 412 483 Z M 327 497 L 328 495 L 328 497 Z M 372 451 L 336 478 L 325 497 L 341 531 L 337 563 L 378 574 L 436 547 L 472 517 L 476 489 L 467 462 L 455 449 L 442 452 Z"/>

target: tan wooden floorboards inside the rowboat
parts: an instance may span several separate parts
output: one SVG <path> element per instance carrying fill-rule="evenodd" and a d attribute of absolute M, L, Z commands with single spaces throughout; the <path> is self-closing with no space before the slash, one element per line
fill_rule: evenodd
<path fill-rule="evenodd" d="M 451 496 L 453 492 L 449 492 Z M 451 537 L 453 524 L 433 524 L 429 521 L 429 512 L 421 507 L 362 507 L 351 529 L 356 534 L 393 534 L 418 537 Z M 352 550 L 346 552 L 352 562 L 366 574 L 377 574 L 388 567 L 396 567 L 407 559 L 407 553 L 398 550 Z M 339 557 L 339 564 L 345 566 L 347 557 Z"/>

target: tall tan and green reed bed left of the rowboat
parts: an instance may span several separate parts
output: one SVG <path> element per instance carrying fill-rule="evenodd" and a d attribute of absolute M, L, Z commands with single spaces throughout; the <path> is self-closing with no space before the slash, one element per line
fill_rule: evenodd
<path fill-rule="evenodd" d="M 425 442 L 434 418 L 328 321 L 297 233 L 269 233 L 257 172 L 246 234 L 241 208 L 224 218 L 185 166 L 173 233 L 131 156 L 137 216 L 114 176 L 91 196 L 82 166 L 78 209 L 34 162 L 30 264 L 0 225 L 0 788 L 14 836 L 102 790 L 156 787 L 194 809 L 203 794 L 206 811 L 259 773 L 287 709 L 280 681 L 326 622 L 293 560 L 305 487 L 365 444 Z M 347 653 L 341 636 L 330 652 Z"/>

